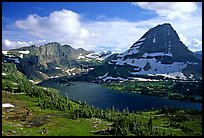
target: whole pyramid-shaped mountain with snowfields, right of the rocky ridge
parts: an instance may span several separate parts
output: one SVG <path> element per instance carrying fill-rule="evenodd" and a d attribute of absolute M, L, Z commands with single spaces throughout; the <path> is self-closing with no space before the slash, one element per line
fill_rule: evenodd
<path fill-rule="evenodd" d="M 109 72 L 106 77 L 112 80 L 138 75 L 202 79 L 201 66 L 201 60 L 180 41 L 173 27 L 164 23 L 151 28 L 130 49 L 111 58 L 106 66 L 92 74 Z M 106 81 L 102 76 L 97 79 Z"/>

